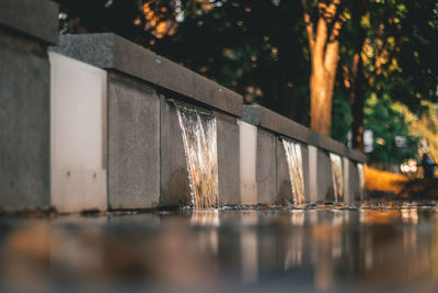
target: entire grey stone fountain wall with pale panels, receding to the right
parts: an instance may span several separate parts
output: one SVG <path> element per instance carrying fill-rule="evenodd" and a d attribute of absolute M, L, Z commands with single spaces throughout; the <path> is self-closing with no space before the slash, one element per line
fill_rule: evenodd
<path fill-rule="evenodd" d="M 343 158 L 344 200 L 361 199 L 362 154 L 266 108 L 243 105 L 240 94 L 111 33 L 60 36 L 49 60 L 47 47 L 58 41 L 57 5 L 3 2 L 2 210 L 191 204 L 174 101 L 216 116 L 220 204 L 292 201 L 283 137 L 301 147 L 308 202 L 334 199 L 330 154 Z M 33 14 L 13 16 L 18 2 L 21 13 Z"/>

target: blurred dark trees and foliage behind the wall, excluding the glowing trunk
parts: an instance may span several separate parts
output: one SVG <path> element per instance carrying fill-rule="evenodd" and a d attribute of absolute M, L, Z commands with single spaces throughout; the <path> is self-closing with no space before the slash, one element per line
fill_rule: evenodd
<path fill-rule="evenodd" d="M 370 167 L 396 173 L 417 172 L 425 151 L 438 158 L 434 0 L 56 2 L 61 34 L 114 32 L 241 93 L 246 103 L 307 126 L 312 72 L 307 24 L 315 24 L 319 34 L 322 10 L 335 2 L 338 12 L 328 19 L 342 27 L 332 137 L 362 149 Z"/>

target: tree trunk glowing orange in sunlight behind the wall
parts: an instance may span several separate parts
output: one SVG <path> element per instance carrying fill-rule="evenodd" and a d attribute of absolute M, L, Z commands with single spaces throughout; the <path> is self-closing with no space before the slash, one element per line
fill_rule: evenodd
<path fill-rule="evenodd" d="M 342 0 L 318 1 L 318 16 L 312 19 L 307 0 L 302 0 L 311 55 L 310 127 L 331 134 L 332 101 L 339 60 L 339 31 L 343 25 Z"/>

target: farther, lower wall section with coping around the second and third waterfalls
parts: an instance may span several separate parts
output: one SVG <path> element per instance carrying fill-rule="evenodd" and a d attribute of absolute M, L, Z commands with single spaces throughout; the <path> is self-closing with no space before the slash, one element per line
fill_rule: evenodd
<path fill-rule="evenodd" d="M 348 149 L 343 144 L 261 105 L 244 105 L 242 120 L 258 128 L 256 193 L 266 198 L 258 196 L 254 203 L 292 201 L 288 164 L 280 140 L 283 137 L 301 146 L 307 202 L 335 201 L 330 154 L 343 158 L 343 201 L 355 202 L 361 199 L 364 187 L 359 184 L 357 169 L 357 164 L 366 160 L 361 153 Z M 270 180 L 272 177 L 275 179 Z"/>

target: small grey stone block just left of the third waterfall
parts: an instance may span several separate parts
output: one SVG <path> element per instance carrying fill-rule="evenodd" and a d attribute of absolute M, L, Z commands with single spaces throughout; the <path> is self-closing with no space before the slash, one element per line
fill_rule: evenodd
<path fill-rule="evenodd" d="M 332 164 L 322 149 L 318 150 L 318 201 L 334 201 Z"/>

